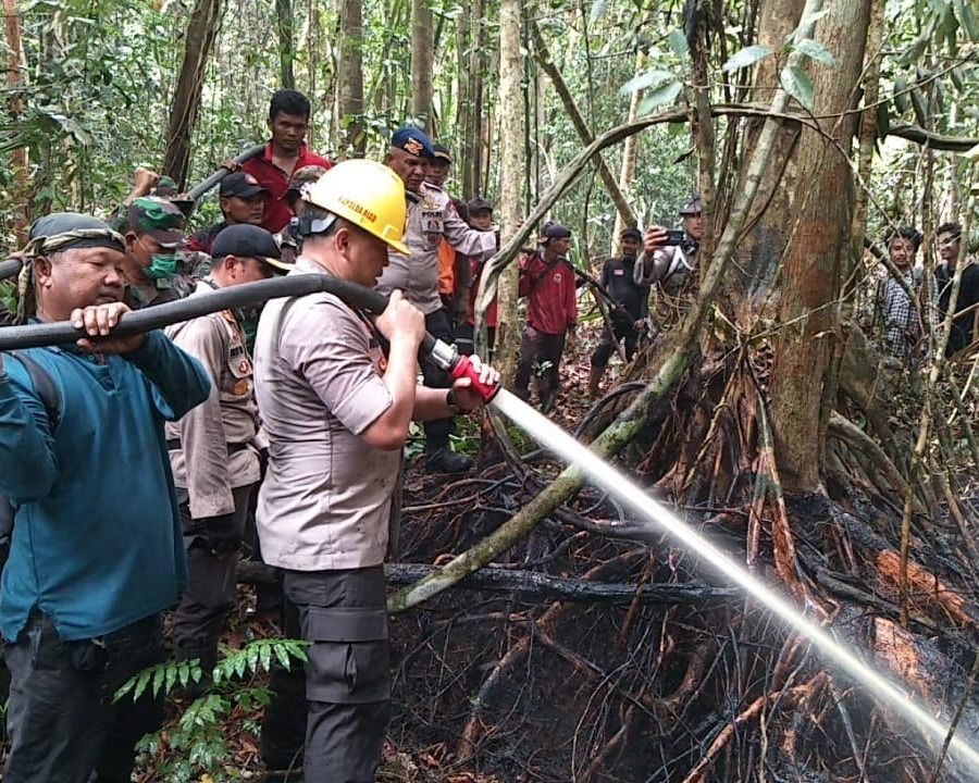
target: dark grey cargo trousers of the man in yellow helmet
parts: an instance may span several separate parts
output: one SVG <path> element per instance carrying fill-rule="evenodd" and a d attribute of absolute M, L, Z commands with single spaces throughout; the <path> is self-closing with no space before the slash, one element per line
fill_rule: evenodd
<path fill-rule="evenodd" d="M 305 783 L 374 780 L 391 713 L 384 586 L 381 566 L 285 573 L 286 597 L 298 609 L 302 638 L 310 643 Z M 286 710 L 274 709 L 287 717 Z M 267 720 L 263 734 L 269 729 Z"/>

